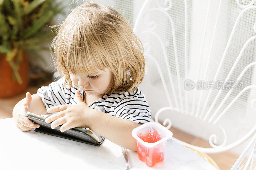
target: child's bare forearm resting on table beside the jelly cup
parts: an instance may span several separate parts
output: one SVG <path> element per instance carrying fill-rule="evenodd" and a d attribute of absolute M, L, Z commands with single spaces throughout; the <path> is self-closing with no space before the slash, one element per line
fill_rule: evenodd
<path fill-rule="evenodd" d="M 95 109 L 90 110 L 89 120 L 88 128 L 92 131 L 119 146 L 137 151 L 136 139 L 132 137 L 132 129 L 140 126 L 140 124 Z"/>

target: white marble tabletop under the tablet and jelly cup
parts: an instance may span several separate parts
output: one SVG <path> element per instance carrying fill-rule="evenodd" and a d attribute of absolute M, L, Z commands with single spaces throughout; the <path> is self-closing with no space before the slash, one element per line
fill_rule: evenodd
<path fill-rule="evenodd" d="M 47 115 L 43 115 L 47 116 Z M 0 120 L 0 169 L 126 169 L 120 146 L 105 139 L 94 146 L 34 129 L 22 132 L 13 118 Z M 195 152 L 168 139 L 164 161 L 148 167 L 135 151 L 128 150 L 132 169 L 216 170 Z"/>

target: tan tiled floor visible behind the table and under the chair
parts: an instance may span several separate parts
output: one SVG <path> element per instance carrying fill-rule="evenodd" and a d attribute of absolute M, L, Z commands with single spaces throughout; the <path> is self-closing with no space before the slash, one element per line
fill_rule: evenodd
<path fill-rule="evenodd" d="M 46 82 L 41 86 L 49 85 L 50 82 Z M 41 87 L 40 86 L 40 87 Z M 13 107 L 23 98 L 26 97 L 26 92 L 30 92 L 31 94 L 35 94 L 39 87 L 28 87 L 28 89 L 11 98 L 1 99 L 0 98 L 0 119 L 10 118 L 12 117 L 12 110 Z M 207 141 L 204 141 L 200 138 L 191 136 L 179 129 L 172 127 L 170 129 L 173 133 L 173 136 L 187 142 L 189 144 L 201 146 L 201 147 L 210 147 Z M 223 152 L 218 154 L 208 154 L 212 157 L 212 159 L 217 163 L 221 170 L 228 170 L 230 169 L 233 164 L 235 163 L 236 159 L 239 155 L 233 154 L 231 152 Z"/>

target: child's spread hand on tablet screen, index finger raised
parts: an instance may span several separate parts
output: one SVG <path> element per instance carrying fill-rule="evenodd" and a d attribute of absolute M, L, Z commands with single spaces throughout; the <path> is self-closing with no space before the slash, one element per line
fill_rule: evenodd
<path fill-rule="evenodd" d="M 79 90 L 76 90 L 75 97 L 77 97 L 76 105 L 59 105 L 47 109 L 48 113 L 58 112 L 45 119 L 46 123 L 52 122 L 52 129 L 62 124 L 63 125 L 60 127 L 61 132 L 76 127 L 88 127 L 91 109 L 84 102 Z"/>

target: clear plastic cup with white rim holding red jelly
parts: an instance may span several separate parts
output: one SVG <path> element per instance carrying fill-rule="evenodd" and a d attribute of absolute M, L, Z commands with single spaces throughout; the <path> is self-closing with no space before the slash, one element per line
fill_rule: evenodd
<path fill-rule="evenodd" d="M 138 135 L 146 135 L 151 130 L 156 130 L 162 137 L 154 143 L 144 142 Z M 154 166 L 164 160 L 167 139 L 172 137 L 172 132 L 157 122 L 147 122 L 132 130 L 132 137 L 137 140 L 137 152 L 141 161 L 147 166 Z"/>

